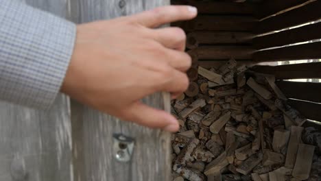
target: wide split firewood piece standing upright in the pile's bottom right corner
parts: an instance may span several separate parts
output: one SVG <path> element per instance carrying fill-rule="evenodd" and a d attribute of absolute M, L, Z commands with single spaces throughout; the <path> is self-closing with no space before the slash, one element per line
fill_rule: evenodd
<path fill-rule="evenodd" d="M 292 172 L 294 178 L 298 180 L 307 180 L 309 178 L 314 149 L 313 145 L 299 144 L 296 164 Z"/>

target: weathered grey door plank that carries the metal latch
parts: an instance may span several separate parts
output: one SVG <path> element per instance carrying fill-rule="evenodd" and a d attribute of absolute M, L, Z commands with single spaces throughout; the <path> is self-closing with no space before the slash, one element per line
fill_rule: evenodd
<path fill-rule="evenodd" d="M 169 1 L 71 1 L 72 19 L 77 23 L 126 16 Z M 166 95 L 165 97 L 163 97 Z M 169 111 L 169 95 L 155 94 L 143 102 Z M 171 173 L 170 134 L 121 121 L 92 108 L 71 104 L 73 167 L 75 178 L 86 180 L 169 180 Z M 134 139 L 129 162 L 119 162 L 113 152 L 113 134 Z M 116 145 L 117 146 L 117 145 Z"/>

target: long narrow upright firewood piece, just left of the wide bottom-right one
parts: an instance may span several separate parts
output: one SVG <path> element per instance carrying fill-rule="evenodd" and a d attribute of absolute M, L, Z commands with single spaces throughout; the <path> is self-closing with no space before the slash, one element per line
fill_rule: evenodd
<path fill-rule="evenodd" d="M 290 127 L 289 144 L 287 145 L 287 158 L 285 158 L 285 167 L 293 169 L 296 162 L 296 155 L 298 153 L 298 146 L 302 143 L 301 134 L 303 128 L 292 125 Z"/>

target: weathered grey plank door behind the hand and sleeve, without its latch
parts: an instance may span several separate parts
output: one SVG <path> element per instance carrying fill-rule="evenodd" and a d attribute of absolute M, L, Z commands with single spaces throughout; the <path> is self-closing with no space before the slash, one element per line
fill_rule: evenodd
<path fill-rule="evenodd" d="M 112 19 L 169 1 L 27 0 L 75 23 Z M 143 80 L 142 80 L 143 81 Z M 108 82 L 106 82 L 108 84 Z M 169 111 L 169 94 L 143 99 Z M 0 180 L 169 180 L 170 134 L 124 122 L 59 95 L 48 111 L 0 103 Z M 132 159 L 119 162 L 113 134 L 134 139 Z M 119 145 L 115 145 L 118 149 Z"/>

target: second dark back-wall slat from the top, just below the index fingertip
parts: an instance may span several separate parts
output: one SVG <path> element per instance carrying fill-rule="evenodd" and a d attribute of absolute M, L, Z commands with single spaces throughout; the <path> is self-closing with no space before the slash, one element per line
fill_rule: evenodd
<path fill-rule="evenodd" d="M 186 32 L 209 31 L 252 31 L 257 20 L 252 16 L 207 16 L 199 15 L 191 21 L 172 23 Z"/>

